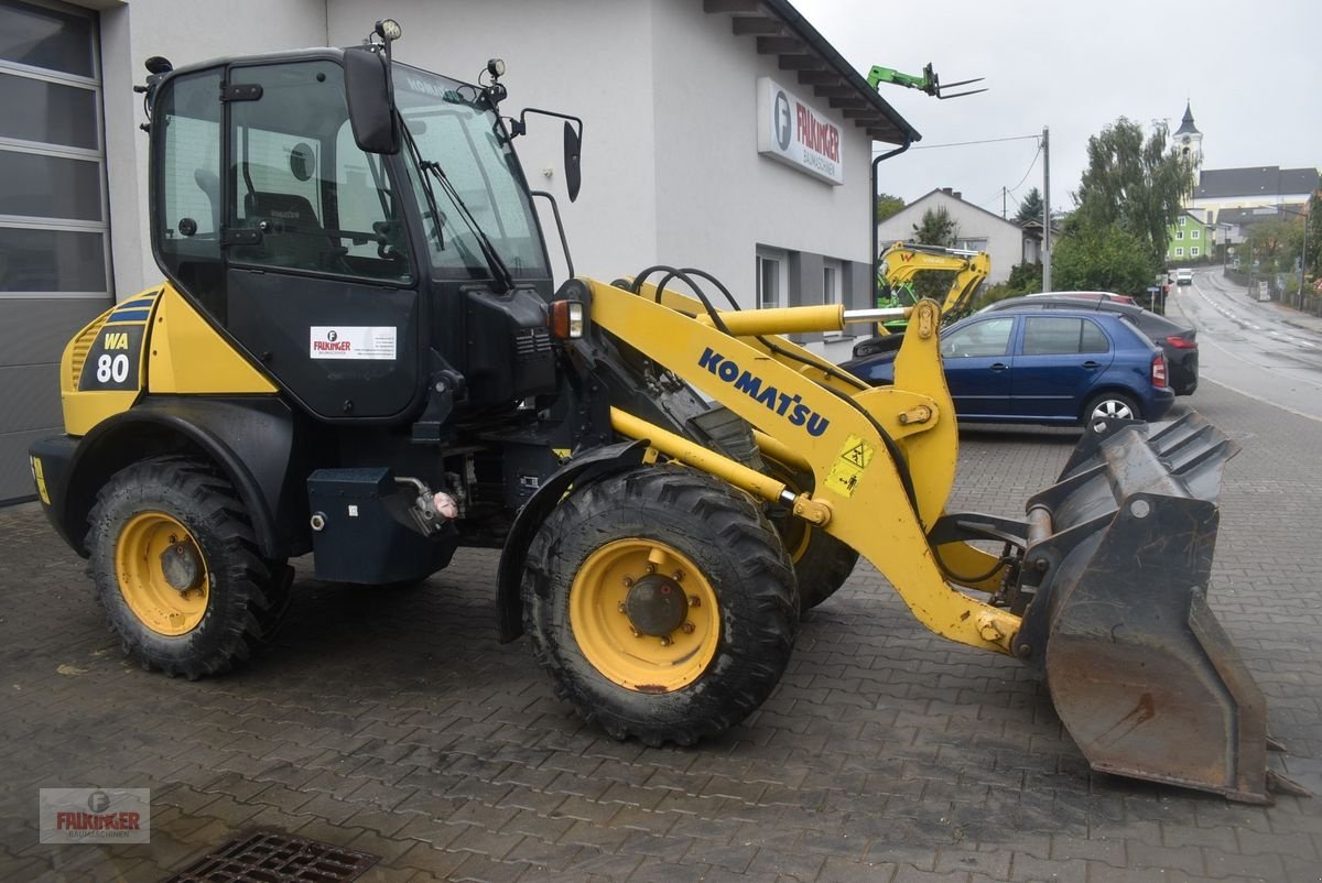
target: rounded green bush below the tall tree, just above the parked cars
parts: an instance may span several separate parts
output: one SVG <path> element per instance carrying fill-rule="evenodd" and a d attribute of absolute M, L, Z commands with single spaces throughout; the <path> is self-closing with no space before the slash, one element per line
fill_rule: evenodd
<path fill-rule="evenodd" d="M 1118 222 L 1076 222 L 1051 251 L 1056 291 L 1146 292 L 1153 280 L 1145 243 Z"/>

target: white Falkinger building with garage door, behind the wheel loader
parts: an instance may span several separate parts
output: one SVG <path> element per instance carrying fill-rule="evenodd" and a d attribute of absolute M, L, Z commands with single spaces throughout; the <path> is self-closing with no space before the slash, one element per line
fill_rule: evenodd
<path fill-rule="evenodd" d="M 501 57 L 506 114 L 583 118 L 574 205 L 559 127 L 534 119 L 517 141 L 579 274 L 668 263 L 750 307 L 869 301 L 871 145 L 917 134 L 787 0 L 0 0 L 0 501 L 32 493 L 26 448 L 59 432 L 65 342 L 160 279 L 144 59 L 352 45 L 383 12 L 399 61 L 473 81 Z"/>

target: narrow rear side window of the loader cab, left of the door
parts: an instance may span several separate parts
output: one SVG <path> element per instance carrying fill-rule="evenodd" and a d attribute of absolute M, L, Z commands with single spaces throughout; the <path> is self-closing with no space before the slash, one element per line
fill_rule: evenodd
<path fill-rule="evenodd" d="M 221 69 L 176 77 L 163 89 L 153 126 L 156 247 L 165 270 L 214 307 L 221 272 Z"/>

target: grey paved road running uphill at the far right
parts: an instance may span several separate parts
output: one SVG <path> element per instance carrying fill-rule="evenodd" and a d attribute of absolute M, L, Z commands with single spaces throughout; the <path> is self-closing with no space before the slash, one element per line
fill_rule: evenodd
<path fill-rule="evenodd" d="M 1219 268 L 1177 287 L 1167 312 L 1198 328 L 1200 382 L 1322 420 L 1322 320 L 1251 300 Z"/>

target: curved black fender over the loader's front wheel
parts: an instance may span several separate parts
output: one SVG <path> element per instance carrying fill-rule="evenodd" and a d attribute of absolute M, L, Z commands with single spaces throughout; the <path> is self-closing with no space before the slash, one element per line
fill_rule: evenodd
<path fill-rule="evenodd" d="M 553 473 L 520 509 L 505 538 L 500 568 L 496 572 L 496 628 L 501 644 L 509 644 L 524 633 L 521 592 L 524 563 L 527 560 L 527 547 L 533 542 L 533 535 L 546 521 L 546 516 L 575 481 L 587 481 L 636 467 L 642 463 L 646 449 L 645 441 L 620 441 L 576 456 Z"/>

